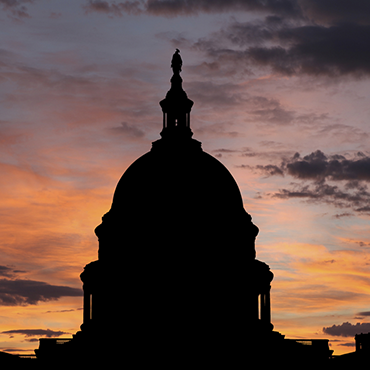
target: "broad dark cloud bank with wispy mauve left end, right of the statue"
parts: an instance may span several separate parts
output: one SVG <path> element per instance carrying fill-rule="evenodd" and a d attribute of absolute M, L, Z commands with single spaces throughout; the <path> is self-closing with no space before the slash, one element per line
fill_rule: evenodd
<path fill-rule="evenodd" d="M 341 22 L 318 25 L 265 21 L 233 22 L 192 46 L 212 65 L 228 62 L 235 70 L 270 68 L 282 75 L 361 76 L 370 73 L 370 25 Z"/>

